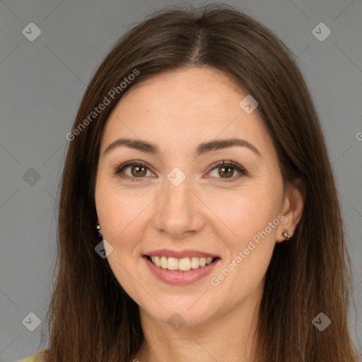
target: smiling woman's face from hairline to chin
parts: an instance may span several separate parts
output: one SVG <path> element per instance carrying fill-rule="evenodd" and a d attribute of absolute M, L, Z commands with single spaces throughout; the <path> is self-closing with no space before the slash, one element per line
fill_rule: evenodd
<path fill-rule="evenodd" d="M 134 86 L 107 120 L 100 233 L 119 284 L 156 320 L 255 308 L 291 227 L 276 151 L 246 95 L 215 70 L 175 71 Z"/>

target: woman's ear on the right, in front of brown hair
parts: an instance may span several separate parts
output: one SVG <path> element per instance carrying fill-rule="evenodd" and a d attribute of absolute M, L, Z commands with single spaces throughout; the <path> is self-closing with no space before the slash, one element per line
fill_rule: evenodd
<path fill-rule="evenodd" d="M 281 235 L 284 230 L 286 230 L 289 235 L 294 234 L 294 230 L 296 230 L 296 226 L 303 214 L 304 202 L 305 185 L 301 179 L 294 180 L 286 187 L 283 206 L 281 208 L 281 214 L 284 215 L 284 219 L 279 223 L 276 243 L 281 243 L 286 240 L 286 238 Z"/>

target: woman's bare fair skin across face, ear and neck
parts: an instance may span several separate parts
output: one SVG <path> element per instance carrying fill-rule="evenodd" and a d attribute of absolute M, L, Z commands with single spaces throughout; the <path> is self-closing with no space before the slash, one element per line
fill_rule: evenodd
<path fill-rule="evenodd" d="M 303 197 L 291 186 L 283 194 L 272 139 L 257 110 L 247 114 L 240 107 L 245 95 L 215 69 L 167 72 L 125 93 L 105 125 L 95 204 L 103 238 L 113 247 L 110 267 L 140 308 L 145 343 L 135 356 L 139 361 L 252 361 L 255 354 L 267 266 L 275 243 L 285 240 L 283 230 L 293 234 Z M 194 156 L 202 142 L 235 136 L 260 156 L 243 146 Z M 105 153 L 119 137 L 156 144 L 160 155 L 124 146 Z M 149 167 L 143 176 L 132 174 L 132 165 L 123 171 L 129 178 L 115 175 L 127 160 Z M 247 174 L 231 169 L 223 177 L 221 166 L 210 169 L 221 160 L 233 160 Z M 167 178 L 175 167 L 186 175 L 178 186 Z M 211 278 L 279 214 L 284 215 L 279 225 L 212 285 Z M 163 248 L 196 249 L 221 260 L 202 280 L 173 286 L 153 276 L 142 257 Z M 177 330 L 168 324 L 174 313 L 185 321 Z"/>

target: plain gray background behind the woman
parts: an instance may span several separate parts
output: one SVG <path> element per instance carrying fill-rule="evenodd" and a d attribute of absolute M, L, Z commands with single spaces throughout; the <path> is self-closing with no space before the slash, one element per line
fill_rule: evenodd
<path fill-rule="evenodd" d="M 264 23 L 286 42 L 313 94 L 354 262 L 352 332 L 361 345 L 357 336 L 362 330 L 362 2 L 225 2 Z M 30 332 L 22 321 L 29 313 L 44 321 L 49 303 L 65 136 L 84 86 L 119 36 L 147 14 L 172 4 L 180 2 L 0 1 L 2 362 L 30 356 L 39 348 L 44 323 Z M 322 42 L 313 35 L 321 22 L 332 31 Z M 42 32 L 33 42 L 22 33 L 29 23 Z M 37 171 L 39 180 L 29 168 Z"/>

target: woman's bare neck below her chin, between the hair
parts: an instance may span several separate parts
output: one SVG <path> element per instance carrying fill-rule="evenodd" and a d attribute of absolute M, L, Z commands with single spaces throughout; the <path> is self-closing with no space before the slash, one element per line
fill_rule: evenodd
<path fill-rule="evenodd" d="M 247 304 L 247 302 L 245 302 Z M 139 361 L 255 361 L 259 303 L 239 305 L 202 325 L 173 329 L 140 308 L 144 344 Z"/>

